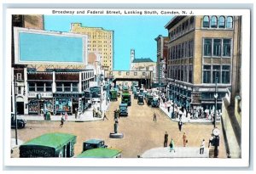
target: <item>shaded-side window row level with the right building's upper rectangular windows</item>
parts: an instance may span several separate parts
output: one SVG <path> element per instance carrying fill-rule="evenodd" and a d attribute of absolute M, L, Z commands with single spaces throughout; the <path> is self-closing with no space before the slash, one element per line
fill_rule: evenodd
<path fill-rule="evenodd" d="M 169 48 L 169 59 L 183 59 L 193 57 L 194 41 L 180 43 Z"/>

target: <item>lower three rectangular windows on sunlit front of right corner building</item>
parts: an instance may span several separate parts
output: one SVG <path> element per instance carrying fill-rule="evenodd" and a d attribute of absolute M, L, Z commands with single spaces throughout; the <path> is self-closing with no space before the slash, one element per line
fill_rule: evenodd
<path fill-rule="evenodd" d="M 203 65 L 203 83 L 230 83 L 230 65 Z"/>

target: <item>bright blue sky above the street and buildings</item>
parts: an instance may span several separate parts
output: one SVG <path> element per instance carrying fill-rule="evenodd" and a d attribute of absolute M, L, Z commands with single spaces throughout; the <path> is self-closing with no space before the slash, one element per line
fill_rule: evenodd
<path fill-rule="evenodd" d="M 172 16 L 82 16 L 82 15 L 45 15 L 46 31 L 70 31 L 70 24 L 82 23 L 83 26 L 102 27 L 114 31 L 114 70 L 129 70 L 130 51 L 135 49 L 135 57 L 150 58 L 156 61 L 156 42 L 154 38 L 167 36 L 165 25 Z"/>

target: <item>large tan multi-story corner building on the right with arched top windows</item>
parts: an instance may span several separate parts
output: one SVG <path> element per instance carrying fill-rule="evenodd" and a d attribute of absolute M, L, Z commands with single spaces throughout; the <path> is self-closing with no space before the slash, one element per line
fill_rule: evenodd
<path fill-rule="evenodd" d="M 170 42 L 167 76 L 170 98 L 186 108 L 217 107 L 233 91 L 233 62 L 240 56 L 238 16 L 176 16 L 166 24 Z"/>

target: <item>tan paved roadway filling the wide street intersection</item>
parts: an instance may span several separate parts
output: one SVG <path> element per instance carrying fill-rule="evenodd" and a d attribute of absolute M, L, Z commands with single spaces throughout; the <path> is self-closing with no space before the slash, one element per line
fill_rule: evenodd
<path fill-rule="evenodd" d="M 113 110 L 117 109 L 120 103 L 112 102 L 108 108 L 105 121 L 90 122 L 65 122 L 62 128 L 58 121 L 29 121 L 25 129 L 20 129 L 18 138 L 26 142 L 31 138 L 36 138 L 47 132 L 67 132 L 77 135 L 75 144 L 75 155 L 82 151 L 82 143 L 90 138 L 101 138 L 105 140 L 108 147 L 122 149 L 123 157 L 137 158 L 149 149 L 163 147 L 164 134 L 167 131 L 170 139 L 173 138 L 176 147 L 183 146 L 183 132 L 186 132 L 189 141 L 189 148 L 200 148 L 201 140 L 205 138 L 206 146 L 212 133 L 212 124 L 205 123 L 186 123 L 183 125 L 182 132 L 178 131 L 177 122 L 171 121 L 160 109 L 148 107 L 147 104 L 138 105 L 137 100 L 133 99 L 129 107 L 129 116 L 120 117 L 119 132 L 124 133 L 124 138 L 109 138 L 109 133 L 113 132 Z M 157 121 L 153 121 L 154 111 L 157 114 Z M 221 130 L 221 126 L 218 127 Z M 15 138 L 15 130 L 11 132 Z M 224 138 L 221 133 L 219 157 L 226 158 L 224 149 Z M 12 157 L 19 157 L 18 149 L 15 149 Z"/>

